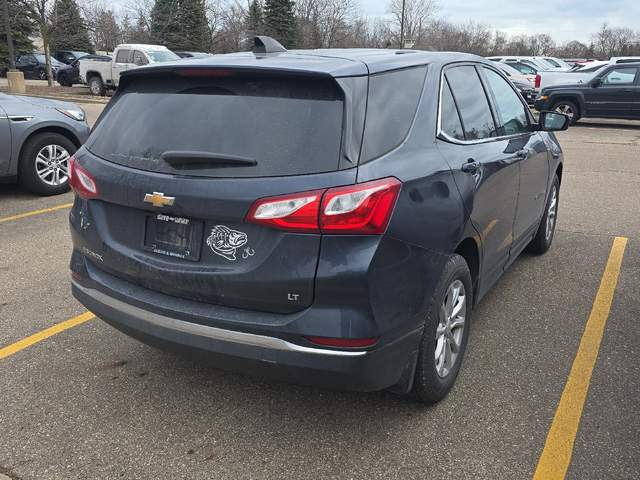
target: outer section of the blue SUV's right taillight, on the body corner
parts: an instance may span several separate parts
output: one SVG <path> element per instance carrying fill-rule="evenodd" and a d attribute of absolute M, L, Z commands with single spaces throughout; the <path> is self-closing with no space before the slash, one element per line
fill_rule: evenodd
<path fill-rule="evenodd" d="M 401 186 L 397 178 L 385 178 L 329 189 L 322 197 L 322 233 L 382 235 Z"/>

